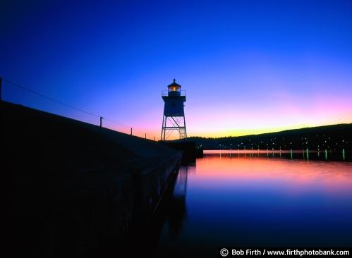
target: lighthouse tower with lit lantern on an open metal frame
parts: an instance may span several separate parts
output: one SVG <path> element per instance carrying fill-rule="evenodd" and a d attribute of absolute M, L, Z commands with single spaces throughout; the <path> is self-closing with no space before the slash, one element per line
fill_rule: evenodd
<path fill-rule="evenodd" d="M 179 139 L 187 137 L 184 106 L 186 90 L 181 90 L 181 85 L 174 82 L 167 86 L 167 91 L 162 91 L 164 100 L 164 115 L 162 117 L 162 137 L 167 140 L 174 132 Z M 175 135 L 174 135 L 175 136 Z"/>

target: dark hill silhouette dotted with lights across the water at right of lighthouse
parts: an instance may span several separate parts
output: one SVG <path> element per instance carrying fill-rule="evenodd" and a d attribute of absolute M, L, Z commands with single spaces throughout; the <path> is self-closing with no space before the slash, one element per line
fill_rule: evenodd
<path fill-rule="evenodd" d="M 202 149 L 352 149 L 352 123 L 238 137 L 189 137 Z"/>

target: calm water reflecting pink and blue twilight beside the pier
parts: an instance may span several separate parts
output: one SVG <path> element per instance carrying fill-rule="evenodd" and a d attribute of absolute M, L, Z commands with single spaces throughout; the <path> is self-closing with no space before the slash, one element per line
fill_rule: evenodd
<path fill-rule="evenodd" d="M 351 247 L 352 162 L 208 151 L 181 167 L 157 256 L 224 246 Z"/>

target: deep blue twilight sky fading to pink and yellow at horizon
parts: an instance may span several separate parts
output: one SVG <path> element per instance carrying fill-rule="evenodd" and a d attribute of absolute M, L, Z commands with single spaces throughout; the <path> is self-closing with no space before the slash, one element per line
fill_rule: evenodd
<path fill-rule="evenodd" d="M 188 136 L 352 123 L 352 1 L 1 1 L 0 76 L 161 135 L 161 92 L 186 90 Z M 99 118 L 13 87 L 4 100 Z"/>

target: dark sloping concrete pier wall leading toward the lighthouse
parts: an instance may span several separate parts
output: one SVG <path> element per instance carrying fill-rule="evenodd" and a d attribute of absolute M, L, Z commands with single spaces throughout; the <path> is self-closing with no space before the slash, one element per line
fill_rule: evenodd
<path fill-rule="evenodd" d="M 160 142 L 8 102 L 1 123 L 16 254 L 90 257 L 111 242 L 123 250 L 181 164 L 182 153 Z"/>

